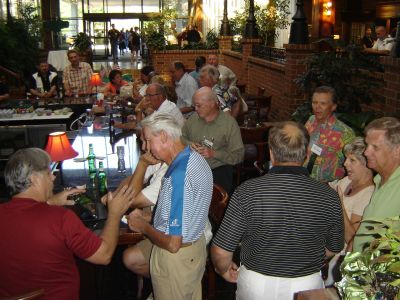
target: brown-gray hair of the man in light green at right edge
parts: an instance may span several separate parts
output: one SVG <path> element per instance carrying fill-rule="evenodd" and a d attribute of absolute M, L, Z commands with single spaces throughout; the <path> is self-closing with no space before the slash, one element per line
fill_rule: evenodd
<path fill-rule="evenodd" d="M 394 147 L 400 145 L 400 121 L 397 118 L 384 117 L 373 120 L 365 127 L 365 135 L 371 130 L 383 130 L 389 146 Z"/>

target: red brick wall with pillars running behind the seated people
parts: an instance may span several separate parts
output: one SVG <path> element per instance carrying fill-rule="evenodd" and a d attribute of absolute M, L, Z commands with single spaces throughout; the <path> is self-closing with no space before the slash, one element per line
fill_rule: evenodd
<path fill-rule="evenodd" d="M 193 69 L 197 56 L 219 54 L 220 62 L 235 72 L 240 84 L 246 85 L 246 93 L 256 94 L 261 87 L 265 88 L 266 94 L 272 95 L 271 121 L 290 119 L 294 110 L 306 101 L 306 96 L 294 80 L 305 71 L 305 60 L 316 51 L 313 44 L 284 45 L 286 61 L 281 64 L 252 56 L 252 45 L 259 43 L 259 40 L 244 41 L 243 53 L 231 51 L 230 37 L 221 38 L 219 43 L 219 50 L 153 51 L 153 65 L 157 72 L 170 81 L 168 68 L 172 61 L 180 60 L 187 68 Z M 363 111 L 400 114 L 400 59 L 382 57 L 381 60 L 385 72 L 377 73 L 376 80 L 385 82 L 381 91 L 384 100 L 363 105 Z"/>

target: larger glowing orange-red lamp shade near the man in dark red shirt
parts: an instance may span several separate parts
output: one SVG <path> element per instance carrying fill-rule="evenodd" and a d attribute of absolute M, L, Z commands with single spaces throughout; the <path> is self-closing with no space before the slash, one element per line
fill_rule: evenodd
<path fill-rule="evenodd" d="M 78 155 L 65 132 L 50 133 L 44 150 L 50 155 L 52 161 L 63 161 Z"/>

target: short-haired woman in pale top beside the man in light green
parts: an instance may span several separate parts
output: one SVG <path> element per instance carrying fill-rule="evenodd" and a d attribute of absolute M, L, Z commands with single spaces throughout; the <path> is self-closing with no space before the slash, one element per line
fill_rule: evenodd
<path fill-rule="evenodd" d="M 346 243 L 343 251 L 335 255 L 329 262 L 326 286 L 331 285 L 334 281 L 332 269 L 336 269 L 341 263 L 341 260 L 338 261 L 340 256 L 352 251 L 354 235 L 360 226 L 364 209 L 375 190 L 373 172 L 367 167 L 367 160 L 364 156 L 366 147 L 364 139 L 361 137 L 356 137 L 351 143 L 344 146 L 343 152 L 346 156 L 344 167 L 347 176 L 329 183 L 338 192 L 342 202 Z"/>

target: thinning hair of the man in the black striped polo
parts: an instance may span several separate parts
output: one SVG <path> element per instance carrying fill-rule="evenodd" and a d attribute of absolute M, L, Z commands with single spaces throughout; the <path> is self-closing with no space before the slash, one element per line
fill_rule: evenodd
<path fill-rule="evenodd" d="M 268 144 L 277 162 L 303 163 L 310 136 L 304 125 L 287 121 L 277 123 L 269 132 Z"/>

